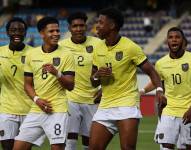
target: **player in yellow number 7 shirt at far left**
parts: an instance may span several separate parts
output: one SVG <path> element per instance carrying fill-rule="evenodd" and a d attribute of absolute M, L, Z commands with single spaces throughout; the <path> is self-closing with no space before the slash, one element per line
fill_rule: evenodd
<path fill-rule="evenodd" d="M 4 150 L 12 150 L 14 138 L 32 104 L 24 92 L 23 77 L 26 52 L 32 47 L 23 42 L 27 25 L 21 18 L 8 21 L 6 32 L 10 42 L 0 47 L 0 141 Z M 43 140 L 36 142 L 39 145 Z"/>

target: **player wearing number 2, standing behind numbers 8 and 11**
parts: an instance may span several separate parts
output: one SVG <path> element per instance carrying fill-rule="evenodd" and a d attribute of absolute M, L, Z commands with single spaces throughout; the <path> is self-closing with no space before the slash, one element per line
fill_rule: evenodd
<path fill-rule="evenodd" d="M 84 149 L 88 149 L 92 118 L 97 110 L 94 101 L 100 99 L 101 92 L 91 85 L 93 51 L 103 49 L 104 43 L 92 36 L 86 36 L 87 16 L 75 12 L 68 17 L 71 38 L 61 41 L 64 49 L 70 50 L 75 58 L 75 88 L 67 92 L 69 99 L 69 124 L 66 150 L 77 149 L 78 134 L 82 136 Z M 105 47 L 106 48 L 106 47 Z"/>

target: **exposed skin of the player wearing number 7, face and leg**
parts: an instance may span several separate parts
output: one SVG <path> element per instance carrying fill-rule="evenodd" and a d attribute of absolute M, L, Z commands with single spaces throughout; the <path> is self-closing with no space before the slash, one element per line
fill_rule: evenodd
<path fill-rule="evenodd" d="M 22 51 L 25 47 L 25 44 L 23 43 L 25 35 L 26 35 L 26 29 L 25 25 L 22 22 L 12 22 L 10 24 L 10 27 L 7 31 L 7 35 L 9 37 L 9 49 L 14 51 Z M 9 140 L 3 140 L 1 141 L 1 146 L 3 150 L 12 150 L 14 145 L 14 139 Z M 29 150 L 31 148 L 29 147 Z"/>

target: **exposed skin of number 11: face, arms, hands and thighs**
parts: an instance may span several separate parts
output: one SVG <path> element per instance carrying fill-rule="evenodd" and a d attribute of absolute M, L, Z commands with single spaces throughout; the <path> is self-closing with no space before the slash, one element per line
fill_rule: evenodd
<path fill-rule="evenodd" d="M 105 39 L 107 46 L 114 46 L 120 40 L 119 28 L 116 23 L 105 15 L 99 15 L 97 22 L 97 33 L 101 39 Z M 148 74 L 154 85 L 161 87 L 161 82 L 154 67 L 148 60 L 145 60 L 139 66 L 146 74 Z M 112 77 L 112 69 L 110 67 L 92 68 L 92 85 L 98 86 L 101 83 L 101 77 Z M 95 78 L 97 78 L 95 80 Z M 166 99 L 161 92 L 157 92 L 156 98 L 164 107 L 166 106 Z M 116 121 L 119 129 L 120 145 L 122 150 L 135 150 L 139 119 L 131 118 Z M 90 150 L 104 150 L 111 141 L 113 135 L 107 130 L 105 126 L 98 122 L 93 122 L 90 133 Z"/>

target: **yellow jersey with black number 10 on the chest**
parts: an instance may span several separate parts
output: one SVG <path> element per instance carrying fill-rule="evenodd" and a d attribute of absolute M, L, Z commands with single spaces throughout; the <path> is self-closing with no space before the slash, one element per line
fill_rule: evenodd
<path fill-rule="evenodd" d="M 167 106 L 163 115 L 183 117 L 191 105 L 191 53 L 179 59 L 164 56 L 156 62 L 156 70 L 164 80 Z"/>

